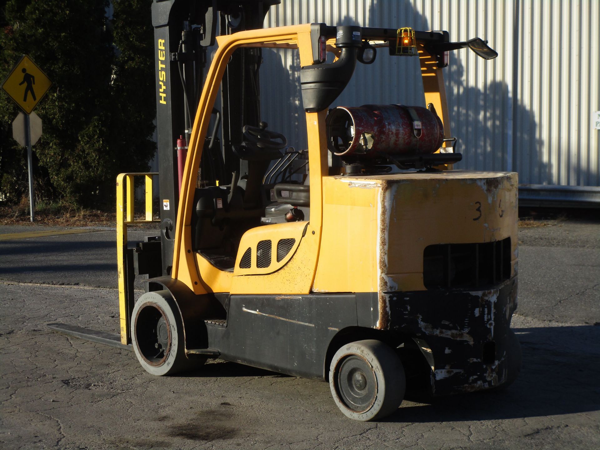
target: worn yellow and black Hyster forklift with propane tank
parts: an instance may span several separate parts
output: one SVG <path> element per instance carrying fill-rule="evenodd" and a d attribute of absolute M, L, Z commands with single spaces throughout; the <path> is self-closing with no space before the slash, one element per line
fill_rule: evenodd
<path fill-rule="evenodd" d="M 155 175 L 119 175 L 119 343 L 159 376 L 220 358 L 325 380 L 361 421 L 395 412 L 407 382 L 432 395 L 508 386 L 521 366 L 517 174 L 454 169 L 443 81 L 448 52 L 497 53 L 446 31 L 262 29 L 278 2 L 152 5 L 161 235 L 127 248 L 134 177 L 152 221 Z M 260 121 L 263 48 L 298 52 L 306 149 Z M 378 55 L 419 58 L 424 105 L 390 92 L 397 104 L 329 109 Z"/>

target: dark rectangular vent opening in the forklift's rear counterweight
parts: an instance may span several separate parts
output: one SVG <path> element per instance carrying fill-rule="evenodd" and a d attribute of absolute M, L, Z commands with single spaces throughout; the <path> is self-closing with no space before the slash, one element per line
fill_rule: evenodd
<path fill-rule="evenodd" d="M 494 286 L 511 277 L 511 238 L 481 244 L 428 245 L 423 252 L 427 289 Z"/>

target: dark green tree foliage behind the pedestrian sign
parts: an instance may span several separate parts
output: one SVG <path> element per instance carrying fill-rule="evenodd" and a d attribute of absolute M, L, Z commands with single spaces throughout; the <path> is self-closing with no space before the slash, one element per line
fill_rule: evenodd
<path fill-rule="evenodd" d="M 156 146 L 151 3 L 8 0 L 0 16 L 0 79 L 29 55 L 53 85 L 35 112 L 38 199 L 111 205 L 119 172 L 143 172 Z M 19 109 L 0 95 L 0 192 L 27 192 L 26 151 L 12 138 Z"/>

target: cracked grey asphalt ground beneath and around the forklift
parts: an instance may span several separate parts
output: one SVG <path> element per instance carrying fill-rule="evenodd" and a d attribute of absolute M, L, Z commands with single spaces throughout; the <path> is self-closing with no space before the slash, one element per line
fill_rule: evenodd
<path fill-rule="evenodd" d="M 327 383 L 218 360 L 152 377 L 133 352 L 51 332 L 50 322 L 118 329 L 115 289 L 35 284 L 104 284 L 109 269 L 88 270 L 85 256 L 86 240 L 100 235 L 64 238 L 79 242 L 76 271 L 61 259 L 52 271 L 63 238 L 32 238 L 21 256 L 19 242 L 0 242 L 0 279 L 16 280 L 0 283 L 2 449 L 600 448 L 597 223 L 521 230 L 512 327 L 524 365 L 514 385 L 433 403 L 409 396 L 376 423 L 346 419 Z M 36 248 L 44 256 L 32 262 Z M 113 247 L 97 248 L 89 264 L 112 265 Z M 26 269 L 43 264 L 47 271 Z"/>

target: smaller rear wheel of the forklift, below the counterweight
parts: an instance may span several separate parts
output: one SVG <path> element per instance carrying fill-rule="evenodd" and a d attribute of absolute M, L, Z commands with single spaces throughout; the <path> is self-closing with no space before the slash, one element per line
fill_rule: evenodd
<path fill-rule="evenodd" d="M 382 341 L 352 342 L 335 353 L 329 368 L 329 388 L 347 417 L 380 419 L 402 403 L 404 368 L 394 350 Z"/>

